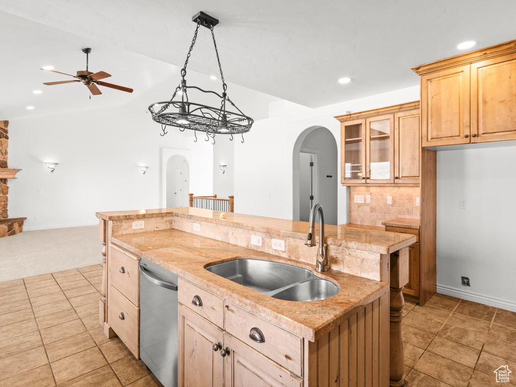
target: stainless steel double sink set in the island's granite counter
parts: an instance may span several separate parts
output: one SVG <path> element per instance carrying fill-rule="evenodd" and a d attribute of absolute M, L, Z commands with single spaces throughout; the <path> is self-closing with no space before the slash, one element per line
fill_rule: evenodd
<path fill-rule="evenodd" d="M 333 282 L 315 276 L 308 269 L 249 257 L 236 257 L 233 261 L 208 266 L 206 270 L 280 300 L 325 300 L 340 290 Z"/>

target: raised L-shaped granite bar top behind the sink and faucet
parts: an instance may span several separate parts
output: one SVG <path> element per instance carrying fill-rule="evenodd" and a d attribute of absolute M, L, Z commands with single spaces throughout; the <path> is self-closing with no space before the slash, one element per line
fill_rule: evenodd
<path fill-rule="evenodd" d="M 177 216 L 220 225 L 229 225 L 285 238 L 304 239 L 307 236 L 308 230 L 308 222 L 228 212 L 225 213 L 225 219 L 220 219 L 220 211 L 193 207 L 96 213 L 97 218 L 104 220 L 143 219 L 162 216 Z M 315 228 L 315 235 L 318 235 L 318 223 Z M 415 236 L 413 235 L 393 234 L 379 230 L 358 229 L 331 224 L 325 224 L 325 237 L 328 245 L 380 254 L 390 254 L 415 242 Z"/>

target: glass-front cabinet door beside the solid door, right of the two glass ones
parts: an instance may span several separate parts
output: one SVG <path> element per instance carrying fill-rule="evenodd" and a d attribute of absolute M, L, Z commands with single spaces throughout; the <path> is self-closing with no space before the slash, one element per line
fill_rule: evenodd
<path fill-rule="evenodd" d="M 366 182 L 394 183 L 394 119 L 366 119 Z"/>

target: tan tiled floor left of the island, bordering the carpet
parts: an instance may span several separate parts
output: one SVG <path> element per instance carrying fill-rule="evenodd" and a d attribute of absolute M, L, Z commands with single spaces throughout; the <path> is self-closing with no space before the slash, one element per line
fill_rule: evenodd
<path fill-rule="evenodd" d="M 0 386 L 159 386 L 99 326 L 102 267 L 0 282 Z"/>

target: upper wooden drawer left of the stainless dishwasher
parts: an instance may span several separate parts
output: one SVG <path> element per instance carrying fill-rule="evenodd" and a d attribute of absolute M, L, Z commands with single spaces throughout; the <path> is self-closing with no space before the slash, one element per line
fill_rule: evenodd
<path fill-rule="evenodd" d="M 139 261 L 111 246 L 109 254 L 109 284 L 115 286 L 129 301 L 139 307 Z"/>

